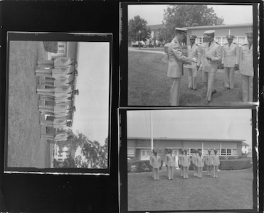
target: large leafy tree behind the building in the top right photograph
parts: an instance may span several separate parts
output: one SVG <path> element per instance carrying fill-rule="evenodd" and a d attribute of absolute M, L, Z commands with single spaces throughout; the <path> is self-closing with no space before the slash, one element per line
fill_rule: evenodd
<path fill-rule="evenodd" d="M 221 25 L 223 18 L 218 18 L 213 8 L 204 4 L 179 4 L 164 10 L 163 23 L 167 28 L 167 38 L 171 40 L 176 27 Z"/>

